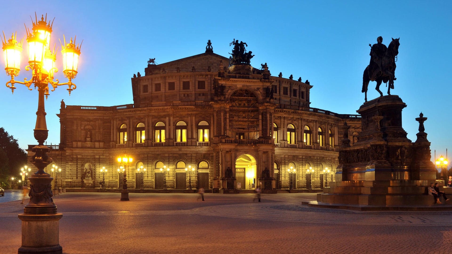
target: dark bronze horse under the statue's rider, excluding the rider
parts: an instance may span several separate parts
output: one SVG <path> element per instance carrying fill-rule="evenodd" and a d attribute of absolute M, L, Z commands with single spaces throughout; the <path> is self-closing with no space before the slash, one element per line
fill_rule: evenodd
<path fill-rule="evenodd" d="M 378 73 L 377 75 L 372 75 L 374 73 L 369 73 L 369 66 L 366 67 L 366 69 L 364 70 L 363 73 L 363 89 L 361 90 L 362 93 L 364 93 L 364 100 L 367 101 L 367 86 L 369 85 L 370 81 L 377 81 L 377 86 L 375 87 L 375 89 L 378 91 L 378 93 L 380 93 L 380 97 L 383 96 L 383 93 L 381 93 L 380 91 L 380 85 L 381 82 L 387 83 L 389 81 L 388 84 L 388 95 L 391 95 L 390 93 L 390 89 L 394 89 L 394 72 L 395 72 L 395 56 L 397 56 L 399 54 L 399 39 L 394 39 L 392 38 L 391 43 L 389 43 L 388 45 L 388 49 L 385 52 L 385 55 L 383 56 L 383 58 L 381 59 L 381 69 L 383 70 L 382 72 L 380 72 L 378 69 L 377 70 L 370 70 L 370 71 L 378 71 L 380 73 Z M 375 80 L 371 80 L 370 77 L 372 76 L 377 76 L 377 78 Z"/>

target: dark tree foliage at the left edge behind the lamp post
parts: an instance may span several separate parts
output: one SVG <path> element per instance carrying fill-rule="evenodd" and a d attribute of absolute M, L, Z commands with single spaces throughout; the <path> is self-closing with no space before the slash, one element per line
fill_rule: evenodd
<path fill-rule="evenodd" d="M 6 186 L 10 176 L 17 177 L 27 164 L 27 153 L 19 147 L 17 139 L 0 128 L 0 184 Z"/>

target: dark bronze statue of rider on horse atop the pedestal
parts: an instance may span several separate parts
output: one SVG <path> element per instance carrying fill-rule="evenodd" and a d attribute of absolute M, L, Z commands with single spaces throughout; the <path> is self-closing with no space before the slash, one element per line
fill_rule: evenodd
<path fill-rule="evenodd" d="M 367 101 L 367 86 L 370 81 L 377 81 L 377 86 L 375 89 L 380 93 L 380 97 L 383 93 L 380 91 L 381 82 L 387 83 L 388 85 L 388 95 L 391 95 L 390 90 L 394 89 L 394 80 L 396 80 L 395 72 L 395 62 L 397 61 L 397 55 L 399 54 L 399 39 L 392 38 L 391 43 L 388 47 L 384 45 L 383 38 L 380 36 L 377 38 L 377 43 L 369 44 L 371 46 L 370 50 L 370 63 L 366 67 L 363 73 L 363 89 L 364 100 Z"/>

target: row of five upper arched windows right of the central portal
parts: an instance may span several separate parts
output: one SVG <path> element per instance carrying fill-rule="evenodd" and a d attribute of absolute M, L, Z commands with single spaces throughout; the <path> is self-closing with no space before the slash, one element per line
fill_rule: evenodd
<path fill-rule="evenodd" d="M 311 139 L 311 128 L 307 125 L 303 128 L 303 142 L 306 145 L 312 145 L 312 139 Z M 287 143 L 289 144 L 295 144 L 297 139 L 295 135 L 295 126 L 293 124 L 287 125 Z M 334 134 L 331 130 L 328 130 L 328 133 L 330 134 L 330 145 L 331 147 L 334 147 Z M 273 138 L 275 139 L 275 143 L 278 143 L 278 126 L 276 123 L 273 122 Z M 320 146 L 325 146 L 325 134 L 323 133 L 322 128 L 317 129 L 317 142 L 320 144 Z"/>

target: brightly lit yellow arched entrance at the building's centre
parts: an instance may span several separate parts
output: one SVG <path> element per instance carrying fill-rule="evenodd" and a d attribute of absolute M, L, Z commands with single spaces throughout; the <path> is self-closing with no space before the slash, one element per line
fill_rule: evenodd
<path fill-rule="evenodd" d="M 235 160 L 235 179 L 237 185 L 240 183 L 241 189 L 249 190 L 256 188 L 256 169 L 257 162 L 253 155 L 244 154 L 237 157 Z"/>

